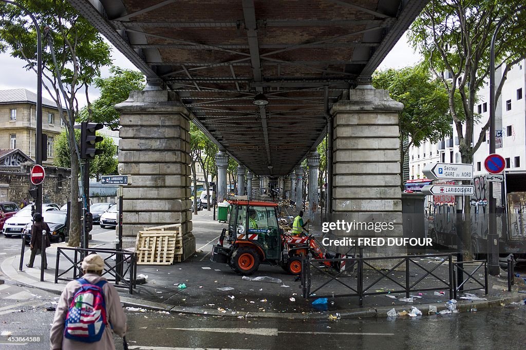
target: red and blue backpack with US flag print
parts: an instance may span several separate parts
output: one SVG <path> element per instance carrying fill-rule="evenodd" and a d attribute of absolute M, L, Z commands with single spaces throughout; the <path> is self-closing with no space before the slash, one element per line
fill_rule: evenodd
<path fill-rule="evenodd" d="M 106 303 L 102 287 L 106 281 L 91 284 L 86 279 L 77 280 L 80 288 L 69 305 L 64 325 L 64 337 L 77 342 L 100 341 L 107 324 Z"/>

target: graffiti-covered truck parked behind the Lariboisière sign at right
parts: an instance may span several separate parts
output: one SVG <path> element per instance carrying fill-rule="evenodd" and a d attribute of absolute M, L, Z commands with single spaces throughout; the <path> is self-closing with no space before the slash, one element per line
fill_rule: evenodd
<path fill-rule="evenodd" d="M 526 173 L 505 173 L 500 195 L 497 193 L 495 220 L 499 234 L 501 257 L 513 254 L 516 259 L 526 258 Z M 437 184 L 437 182 L 434 182 Z M 454 182 L 439 182 L 454 184 Z M 488 198 L 489 183 L 484 176 L 473 179 L 474 195 L 466 197 L 471 205 L 471 246 L 472 257 L 484 258 L 488 247 Z M 497 190 L 498 192 L 498 190 Z M 457 201 L 462 197 L 450 195 L 428 196 L 426 217 L 428 237 L 433 243 L 448 248 L 457 248 L 457 219 L 466 219 L 465 213 L 457 212 Z M 460 206 L 461 207 L 461 206 Z M 459 227 L 460 226 L 460 227 Z"/>

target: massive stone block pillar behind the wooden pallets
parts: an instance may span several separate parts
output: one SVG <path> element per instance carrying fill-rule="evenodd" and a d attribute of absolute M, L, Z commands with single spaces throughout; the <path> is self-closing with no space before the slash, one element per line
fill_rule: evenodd
<path fill-rule="evenodd" d="M 183 259 L 195 252 L 191 233 L 190 120 L 174 92 L 133 91 L 120 113 L 119 174 L 123 188 L 123 247 L 135 246 L 144 227 L 181 224 Z"/>

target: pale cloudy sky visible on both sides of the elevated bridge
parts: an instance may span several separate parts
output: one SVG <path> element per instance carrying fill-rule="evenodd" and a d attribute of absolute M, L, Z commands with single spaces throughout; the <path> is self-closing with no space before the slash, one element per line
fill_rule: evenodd
<path fill-rule="evenodd" d="M 127 69 L 136 69 L 135 66 L 131 64 L 128 59 L 115 48 L 112 49 L 112 59 L 114 65 L 116 66 Z M 420 61 L 420 59 L 421 56 L 413 52 L 413 49 L 407 42 L 406 35 L 404 35 L 401 37 L 395 47 L 393 47 L 391 52 L 386 56 L 378 68 L 402 68 L 416 64 Z M 0 75 L 0 90 L 26 88 L 36 93 L 36 73 L 33 71 L 26 71 L 24 65 L 24 61 L 11 57 L 8 53 L 0 54 L 0 72 L 2 72 Z M 108 77 L 109 67 L 103 67 L 102 72 L 103 77 Z M 47 94 L 44 88 L 42 91 L 43 97 L 50 99 L 50 96 Z M 97 88 L 92 87 L 89 89 L 90 101 L 95 101 L 99 95 L 100 94 Z M 78 101 L 80 106 L 86 105 L 84 93 L 78 95 Z"/>

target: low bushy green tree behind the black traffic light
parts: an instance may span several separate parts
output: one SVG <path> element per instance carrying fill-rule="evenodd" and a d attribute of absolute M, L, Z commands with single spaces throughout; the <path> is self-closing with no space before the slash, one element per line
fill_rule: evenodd
<path fill-rule="evenodd" d="M 96 155 L 89 164 L 89 175 L 90 177 L 96 176 L 100 179 L 101 175 L 115 174 L 117 171 L 118 159 L 115 157 L 117 154 L 117 146 L 113 142 L 113 139 L 108 136 L 102 136 L 103 141 L 97 144 L 97 149 L 102 149 L 103 153 Z M 77 142 L 80 140 L 80 130 L 75 129 L 75 139 Z M 68 136 L 65 132 L 58 135 L 55 142 L 55 158 L 53 164 L 63 168 L 71 167 L 71 158 L 69 156 L 69 142 Z"/>

